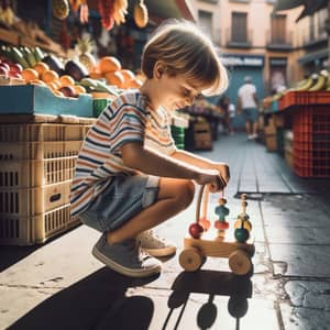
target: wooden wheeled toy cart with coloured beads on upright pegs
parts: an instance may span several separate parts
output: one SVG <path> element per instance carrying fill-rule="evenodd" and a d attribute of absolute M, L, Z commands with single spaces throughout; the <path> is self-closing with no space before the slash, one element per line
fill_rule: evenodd
<path fill-rule="evenodd" d="M 206 190 L 205 196 L 204 191 Z M 229 267 L 235 275 L 252 275 L 253 264 L 252 256 L 255 248 L 251 238 L 252 224 L 246 215 L 246 195 L 242 194 L 241 204 L 242 212 L 234 222 L 233 230 L 229 230 L 229 223 L 226 217 L 229 209 L 226 207 L 227 200 L 222 196 L 219 199 L 219 206 L 215 212 L 219 219 L 215 221 L 216 234 L 211 233 L 211 222 L 207 219 L 209 190 L 201 186 L 197 200 L 196 221 L 189 227 L 189 238 L 184 240 L 184 250 L 179 255 L 179 264 L 187 272 L 195 272 L 201 268 L 207 256 L 228 257 Z M 200 207 L 204 198 L 204 209 L 200 217 Z M 232 233 L 230 240 L 228 233 Z"/>

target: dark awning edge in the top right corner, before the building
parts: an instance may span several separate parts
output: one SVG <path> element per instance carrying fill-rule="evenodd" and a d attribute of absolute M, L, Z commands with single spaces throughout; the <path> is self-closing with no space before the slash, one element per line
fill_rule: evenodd
<path fill-rule="evenodd" d="M 304 6 L 304 10 L 297 21 L 305 16 L 312 15 L 320 9 L 327 8 L 329 0 L 277 0 L 274 6 L 274 11 L 288 10 Z"/>

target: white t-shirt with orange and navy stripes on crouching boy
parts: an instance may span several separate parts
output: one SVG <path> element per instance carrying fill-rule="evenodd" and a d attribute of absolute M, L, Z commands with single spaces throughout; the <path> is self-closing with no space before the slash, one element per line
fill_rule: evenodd
<path fill-rule="evenodd" d="M 123 164 L 121 146 L 142 142 L 170 155 L 176 147 L 170 136 L 165 109 L 148 110 L 146 99 L 136 90 L 122 94 L 99 116 L 79 151 L 70 190 L 72 216 L 78 216 L 118 174 L 136 170 Z"/>

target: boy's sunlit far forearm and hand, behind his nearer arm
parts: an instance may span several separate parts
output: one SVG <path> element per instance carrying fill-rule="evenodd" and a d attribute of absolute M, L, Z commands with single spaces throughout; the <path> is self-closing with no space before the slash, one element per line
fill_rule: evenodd
<path fill-rule="evenodd" d="M 230 179 L 229 166 L 226 163 L 216 163 L 182 150 L 177 150 L 170 156 L 179 162 L 184 162 L 200 168 L 217 169 L 226 183 L 228 183 Z"/>

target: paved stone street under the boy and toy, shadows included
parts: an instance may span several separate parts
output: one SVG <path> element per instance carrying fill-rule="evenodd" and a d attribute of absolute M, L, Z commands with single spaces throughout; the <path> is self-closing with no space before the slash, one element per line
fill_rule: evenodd
<path fill-rule="evenodd" d="M 80 226 L 42 246 L 0 250 L 0 329 L 327 330 L 330 324 L 330 179 L 297 177 L 276 153 L 220 135 L 212 151 L 229 163 L 232 226 L 240 195 L 255 239 L 254 274 L 233 276 L 228 260 L 183 272 L 178 255 L 196 200 L 156 229 L 178 245 L 157 278 L 131 279 L 91 256 L 98 232 Z M 209 216 L 219 196 L 209 200 Z"/>

